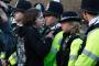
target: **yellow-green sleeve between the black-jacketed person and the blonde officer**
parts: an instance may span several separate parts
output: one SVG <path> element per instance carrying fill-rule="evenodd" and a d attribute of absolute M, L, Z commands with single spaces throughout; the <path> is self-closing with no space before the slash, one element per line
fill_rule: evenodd
<path fill-rule="evenodd" d="M 56 36 L 54 37 L 51 51 L 48 55 L 45 57 L 44 66 L 56 66 L 55 58 L 56 58 L 56 53 L 59 50 L 59 42 L 62 37 L 63 37 L 63 32 L 57 33 Z"/>

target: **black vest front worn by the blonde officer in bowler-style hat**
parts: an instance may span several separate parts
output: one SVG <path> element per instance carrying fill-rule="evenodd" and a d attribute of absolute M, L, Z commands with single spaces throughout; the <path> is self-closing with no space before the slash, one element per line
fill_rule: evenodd
<path fill-rule="evenodd" d="M 56 54 L 57 66 L 67 66 L 68 59 L 69 59 L 72 42 L 76 38 L 79 38 L 79 35 L 72 35 L 70 37 L 69 36 L 67 36 L 67 37 L 62 40 L 59 51 Z M 67 40 L 67 42 L 66 42 L 66 40 Z M 64 48 L 64 44 L 66 44 L 65 48 Z"/>

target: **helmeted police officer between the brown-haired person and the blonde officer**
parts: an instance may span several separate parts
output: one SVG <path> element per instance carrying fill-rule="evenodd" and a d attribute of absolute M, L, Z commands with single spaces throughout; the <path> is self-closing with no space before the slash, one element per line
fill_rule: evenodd
<path fill-rule="evenodd" d="M 59 2 L 51 1 L 47 6 L 47 9 L 45 10 L 44 18 L 45 18 L 45 29 L 42 32 L 43 37 L 48 35 L 55 35 L 61 31 L 59 26 L 61 24 L 57 24 L 58 19 L 61 14 L 63 13 L 63 6 Z M 56 25 L 57 24 L 57 25 Z M 57 30 L 58 29 L 58 30 Z M 55 43 L 53 41 L 53 43 Z M 45 57 L 44 66 L 53 66 L 55 62 L 55 52 L 54 48 L 56 48 L 56 45 L 52 43 L 52 47 L 50 50 L 50 53 Z"/>

